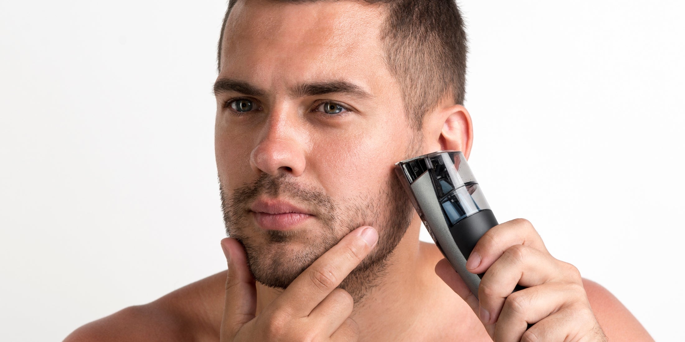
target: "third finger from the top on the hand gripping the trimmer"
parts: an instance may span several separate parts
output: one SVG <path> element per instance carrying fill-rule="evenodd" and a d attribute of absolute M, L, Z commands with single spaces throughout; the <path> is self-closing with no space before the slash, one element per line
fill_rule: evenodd
<path fill-rule="evenodd" d="M 528 324 L 542 323 L 545 317 L 571 304 L 587 302 L 585 289 L 575 283 L 547 282 L 543 285 L 516 291 L 506 298 L 497 325 L 495 341 L 520 341 Z M 589 304 L 588 310 L 589 310 Z M 594 317 L 594 316 L 593 316 Z M 575 319 L 570 319 L 575 321 Z M 558 329 L 560 327 L 548 326 Z M 564 341 L 542 339 L 539 341 Z"/>

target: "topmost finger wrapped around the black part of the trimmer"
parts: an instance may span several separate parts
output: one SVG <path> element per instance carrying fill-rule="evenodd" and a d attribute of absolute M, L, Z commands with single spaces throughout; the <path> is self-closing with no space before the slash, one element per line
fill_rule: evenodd
<path fill-rule="evenodd" d="M 481 274 L 499 259 L 507 248 L 514 245 L 529 246 L 547 252 L 543 239 L 533 225 L 528 220 L 517 218 L 490 228 L 475 244 L 466 261 L 466 268 L 473 274 Z"/>

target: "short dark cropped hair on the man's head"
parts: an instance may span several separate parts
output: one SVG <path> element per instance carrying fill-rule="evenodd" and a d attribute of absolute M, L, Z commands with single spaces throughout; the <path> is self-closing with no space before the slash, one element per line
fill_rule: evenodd
<path fill-rule="evenodd" d="M 217 62 L 228 16 L 237 0 L 229 0 L 221 25 Z M 271 0 L 312 3 L 326 0 Z M 330 0 L 329 0 L 330 1 Z M 334 0 L 335 1 L 335 0 Z M 466 32 L 454 0 L 364 0 L 387 8 L 381 37 L 386 63 L 401 86 L 404 107 L 414 127 L 446 95 L 464 104 L 466 92 Z"/>

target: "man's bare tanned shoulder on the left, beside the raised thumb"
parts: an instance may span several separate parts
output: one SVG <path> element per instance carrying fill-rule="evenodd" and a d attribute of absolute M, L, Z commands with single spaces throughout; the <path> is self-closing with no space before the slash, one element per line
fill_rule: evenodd
<path fill-rule="evenodd" d="M 92 321 L 64 342 L 218 340 L 225 282 L 226 271 L 208 276 L 154 302 Z"/>

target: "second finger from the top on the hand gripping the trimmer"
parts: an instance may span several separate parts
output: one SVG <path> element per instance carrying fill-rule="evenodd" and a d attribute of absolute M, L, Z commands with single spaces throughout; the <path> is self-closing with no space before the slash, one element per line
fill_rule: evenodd
<path fill-rule="evenodd" d="M 494 323 L 516 284 L 533 287 L 561 280 L 560 261 L 535 248 L 514 245 L 485 272 L 478 287 L 480 318 Z"/>

